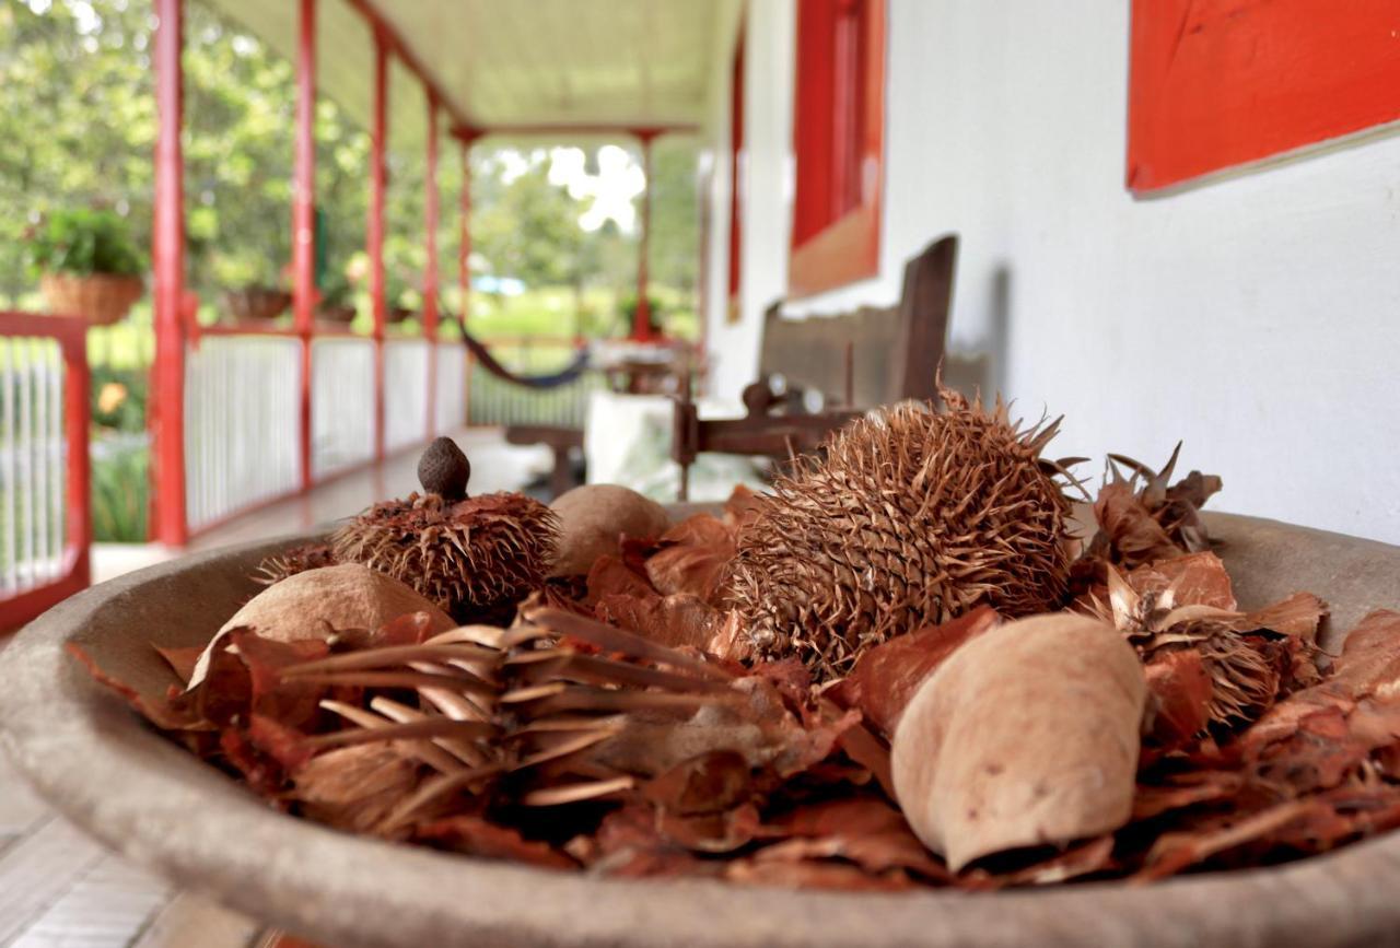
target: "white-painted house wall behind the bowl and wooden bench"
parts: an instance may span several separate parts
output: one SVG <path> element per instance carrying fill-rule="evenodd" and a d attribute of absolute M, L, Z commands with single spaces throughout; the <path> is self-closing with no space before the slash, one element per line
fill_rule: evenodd
<path fill-rule="evenodd" d="M 958 231 L 953 344 L 990 350 L 1025 414 L 1065 414 L 1051 452 L 1161 463 L 1184 438 L 1225 480 L 1212 507 L 1400 542 L 1400 136 L 1134 200 L 1127 3 L 889 4 L 881 274 L 798 308 L 892 301 Z M 757 286 L 725 349 L 756 346 L 785 280 L 790 10 L 750 11 Z"/>

